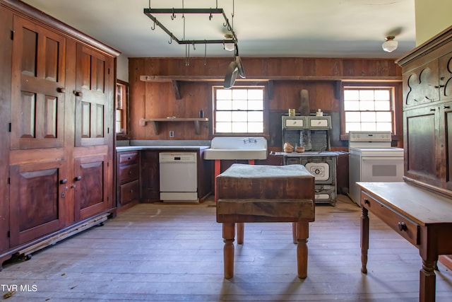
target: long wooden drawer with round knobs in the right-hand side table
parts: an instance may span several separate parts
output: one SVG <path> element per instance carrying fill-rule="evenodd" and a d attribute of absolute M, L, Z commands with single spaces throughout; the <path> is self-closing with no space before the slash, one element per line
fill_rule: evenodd
<path fill-rule="evenodd" d="M 389 209 L 363 191 L 361 191 L 361 207 L 368 209 L 413 245 L 420 244 L 420 226 L 417 223 Z"/>

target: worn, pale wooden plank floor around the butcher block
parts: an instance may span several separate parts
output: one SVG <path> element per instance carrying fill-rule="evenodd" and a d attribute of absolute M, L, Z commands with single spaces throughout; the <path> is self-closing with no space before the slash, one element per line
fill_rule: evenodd
<path fill-rule="evenodd" d="M 418 301 L 419 252 L 374 216 L 369 273 L 360 272 L 359 216 L 345 195 L 336 207 L 316 207 L 304 280 L 290 223 L 248 223 L 226 280 L 215 203 L 138 204 L 31 260 L 4 265 L 0 292 L 18 286 L 11 302 Z M 452 301 L 452 272 L 439 269 L 436 301 Z"/>

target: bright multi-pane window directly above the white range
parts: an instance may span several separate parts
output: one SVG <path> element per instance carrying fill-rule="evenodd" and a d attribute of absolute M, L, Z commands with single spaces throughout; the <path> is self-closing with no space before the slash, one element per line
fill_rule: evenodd
<path fill-rule="evenodd" d="M 345 133 L 391 131 L 394 133 L 393 87 L 344 87 Z"/>

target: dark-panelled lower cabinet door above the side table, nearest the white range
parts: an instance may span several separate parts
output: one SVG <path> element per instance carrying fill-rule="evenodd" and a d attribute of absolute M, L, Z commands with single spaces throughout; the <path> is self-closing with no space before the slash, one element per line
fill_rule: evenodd
<path fill-rule="evenodd" d="M 439 105 L 403 112 L 405 176 L 441 187 Z"/>

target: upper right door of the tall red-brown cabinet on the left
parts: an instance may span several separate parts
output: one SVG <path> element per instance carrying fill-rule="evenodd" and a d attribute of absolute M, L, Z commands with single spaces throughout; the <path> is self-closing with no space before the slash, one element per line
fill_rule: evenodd
<path fill-rule="evenodd" d="M 77 45 L 76 146 L 107 144 L 113 128 L 113 59 Z"/>

